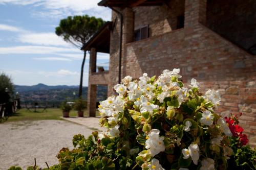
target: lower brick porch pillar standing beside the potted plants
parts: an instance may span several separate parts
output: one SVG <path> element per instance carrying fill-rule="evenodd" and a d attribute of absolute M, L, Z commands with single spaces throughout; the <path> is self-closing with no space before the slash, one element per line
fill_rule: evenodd
<path fill-rule="evenodd" d="M 90 84 L 88 86 L 88 96 L 87 96 L 87 108 L 90 117 L 96 116 L 96 100 L 97 100 L 97 85 Z"/>

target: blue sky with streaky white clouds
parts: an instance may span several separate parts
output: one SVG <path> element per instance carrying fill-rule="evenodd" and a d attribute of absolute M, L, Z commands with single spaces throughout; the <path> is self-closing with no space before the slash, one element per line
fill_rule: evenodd
<path fill-rule="evenodd" d="M 111 19 L 100 0 L 0 0 L 0 73 L 16 85 L 79 85 L 83 52 L 55 35 L 60 19 L 89 15 Z M 97 63 L 109 55 L 97 54 Z M 83 85 L 88 85 L 89 54 Z"/>

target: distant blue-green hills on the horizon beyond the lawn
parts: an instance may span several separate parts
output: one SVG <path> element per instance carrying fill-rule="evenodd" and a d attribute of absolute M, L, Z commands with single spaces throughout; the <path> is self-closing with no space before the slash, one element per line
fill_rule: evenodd
<path fill-rule="evenodd" d="M 62 101 L 73 101 L 78 98 L 79 86 L 57 85 L 48 86 L 37 84 L 33 86 L 14 85 L 15 91 L 19 92 L 22 103 L 59 104 Z M 88 87 L 83 87 L 82 98 L 87 100 Z M 76 93 L 74 96 L 73 93 Z M 105 100 L 107 97 L 107 86 L 97 86 L 97 101 Z"/>

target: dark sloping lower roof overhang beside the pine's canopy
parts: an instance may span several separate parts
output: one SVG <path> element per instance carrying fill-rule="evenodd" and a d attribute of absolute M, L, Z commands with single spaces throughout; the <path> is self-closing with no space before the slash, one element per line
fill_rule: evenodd
<path fill-rule="evenodd" d="M 110 53 L 110 32 L 112 22 L 106 22 L 93 37 L 82 46 L 81 50 L 90 51 L 91 48 L 96 48 L 97 52 Z"/>

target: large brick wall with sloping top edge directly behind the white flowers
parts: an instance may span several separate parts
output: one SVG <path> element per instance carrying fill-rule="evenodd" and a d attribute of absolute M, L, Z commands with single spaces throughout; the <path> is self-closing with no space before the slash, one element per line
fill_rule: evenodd
<path fill-rule="evenodd" d="M 126 44 L 123 74 L 134 78 L 143 72 L 159 75 L 164 69 L 180 68 L 182 80 L 201 82 L 201 88 L 219 89 L 219 113 L 244 114 L 240 120 L 245 132 L 256 134 L 256 60 L 236 45 L 199 25 L 139 42 Z"/>

